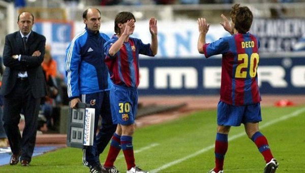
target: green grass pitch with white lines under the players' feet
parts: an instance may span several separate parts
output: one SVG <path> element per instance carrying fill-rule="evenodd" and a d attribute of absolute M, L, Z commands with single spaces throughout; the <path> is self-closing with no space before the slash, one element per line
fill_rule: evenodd
<path fill-rule="evenodd" d="M 305 107 L 263 107 L 260 131 L 267 137 L 277 172 L 305 170 Z M 150 172 L 207 172 L 214 167 L 216 110 L 200 111 L 163 124 L 138 128 L 134 134 L 136 164 Z M 100 156 L 103 163 L 108 147 Z M 31 166 L 5 165 L 0 172 L 89 172 L 82 151 L 63 148 L 34 157 Z M 126 172 L 120 152 L 115 166 Z M 264 159 L 243 125 L 232 127 L 224 172 L 263 172 Z"/>

